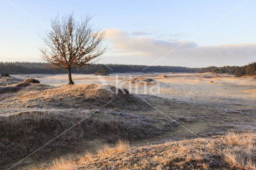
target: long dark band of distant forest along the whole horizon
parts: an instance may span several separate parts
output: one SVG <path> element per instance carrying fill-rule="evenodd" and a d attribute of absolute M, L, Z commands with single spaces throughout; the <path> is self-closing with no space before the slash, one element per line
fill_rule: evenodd
<path fill-rule="evenodd" d="M 105 68 L 108 73 L 126 73 L 126 72 L 182 72 L 182 73 L 206 73 L 212 72 L 215 68 L 220 70 L 220 73 L 230 73 L 234 74 L 236 77 L 244 75 L 256 75 L 256 62 L 250 63 L 248 65 L 239 66 L 224 66 L 224 67 L 204 67 L 204 68 L 189 68 L 189 67 L 177 67 L 177 66 L 150 66 L 147 69 L 147 65 L 124 65 L 124 64 L 90 64 L 83 66 L 81 68 L 72 69 L 72 73 L 82 73 L 82 74 L 93 74 L 96 73 L 101 68 Z M 52 70 L 45 67 L 44 63 L 36 62 L 0 62 L 0 73 L 9 74 L 59 74 L 67 73 L 67 70 Z"/>

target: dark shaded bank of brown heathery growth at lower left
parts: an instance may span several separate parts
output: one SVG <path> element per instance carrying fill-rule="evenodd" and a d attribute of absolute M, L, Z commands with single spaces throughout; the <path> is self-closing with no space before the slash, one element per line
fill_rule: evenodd
<path fill-rule="evenodd" d="M 0 117 L 0 165 L 28 156 L 86 116 L 70 117 L 39 112 Z M 156 128 L 142 121 L 99 120 L 90 116 L 33 154 L 33 157 L 45 158 L 69 149 L 79 149 L 76 146 L 78 141 L 96 137 L 108 142 L 119 139 L 132 141 L 157 133 Z"/>

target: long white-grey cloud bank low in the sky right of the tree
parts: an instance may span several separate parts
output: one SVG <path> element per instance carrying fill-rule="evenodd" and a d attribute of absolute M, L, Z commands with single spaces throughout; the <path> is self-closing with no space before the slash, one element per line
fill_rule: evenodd
<path fill-rule="evenodd" d="M 139 37 L 119 29 L 107 29 L 106 40 L 112 49 L 102 58 L 104 63 L 150 65 L 185 41 L 156 40 Z M 135 36 L 135 37 L 134 37 Z M 179 65 L 186 67 L 207 67 L 210 65 L 245 65 L 256 61 L 256 43 L 198 46 L 186 42 L 154 65 Z"/>

